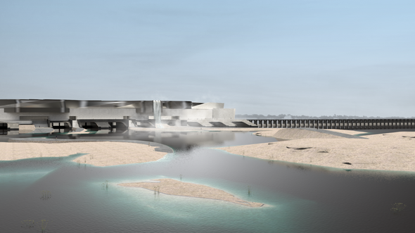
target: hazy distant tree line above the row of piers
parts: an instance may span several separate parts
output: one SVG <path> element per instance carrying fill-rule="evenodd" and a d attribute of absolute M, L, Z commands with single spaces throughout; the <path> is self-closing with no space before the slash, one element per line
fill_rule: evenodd
<path fill-rule="evenodd" d="M 245 119 L 249 119 L 249 118 L 253 118 L 253 119 L 365 119 L 365 118 L 379 118 L 382 119 L 381 117 L 377 116 L 377 117 L 373 117 L 373 116 L 357 116 L 357 115 L 321 115 L 319 117 L 316 116 L 309 116 L 309 115 L 290 115 L 290 114 L 280 114 L 280 115 L 258 115 L 258 114 L 236 114 L 235 115 L 236 118 L 245 118 Z M 391 116 L 388 118 L 402 118 L 402 117 L 397 117 L 397 116 Z M 412 117 L 414 118 L 414 117 Z M 385 119 L 385 118 L 383 118 Z"/>

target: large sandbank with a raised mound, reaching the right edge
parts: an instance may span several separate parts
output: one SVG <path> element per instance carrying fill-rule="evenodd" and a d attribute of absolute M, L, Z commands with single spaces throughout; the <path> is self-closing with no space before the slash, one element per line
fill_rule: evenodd
<path fill-rule="evenodd" d="M 219 149 L 241 156 L 332 168 L 415 172 L 415 132 L 364 135 L 363 139 L 321 135 L 324 134 L 321 132 L 314 134 L 308 130 L 302 130 L 302 135 L 298 130 L 291 130 L 290 134 L 290 129 L 267 130 L 257 134 L 281 138 L 281 130 L 288 130 L 284 135 L 290 140 Z M 362 134 L 349 130 L 338 132 Z"/>

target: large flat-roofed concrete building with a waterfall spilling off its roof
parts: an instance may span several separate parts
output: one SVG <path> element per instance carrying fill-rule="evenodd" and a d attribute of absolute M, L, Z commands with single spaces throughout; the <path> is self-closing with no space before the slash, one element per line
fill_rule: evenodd
<path fill-rule="evenodd" d="M 224 103 L 192 101 L 99 101 L 65 99 L 0 99 L 0 127 L 19 125 L 55 129 L 157 127 L 256 127 L 235 120 L 235 109 Z"/>

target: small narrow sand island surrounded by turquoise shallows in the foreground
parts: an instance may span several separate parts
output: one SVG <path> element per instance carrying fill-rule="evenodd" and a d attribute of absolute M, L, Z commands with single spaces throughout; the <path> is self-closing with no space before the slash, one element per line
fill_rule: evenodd
<path fill-rule="evenodd" d="M 137 182 L 137 183 L 125 183 L 118 184 L 125 187 L 139 187 L 143 189 L 150 189 L 155 193 L 162 193 L 174 196 L 189 196 L 201 199 L 214 199 L 221 201 L 229 201 L 231 203 L 237 203 L 243 206 L 261 207 L 263 203 L 248 202 L 238 199 L 232 194 L 226 193 L 226 191 L 220 189 L 214 189 L 202 184 L 192 184 L 181 182 L 172 179 L 158 179 L 154 182 Z"/>

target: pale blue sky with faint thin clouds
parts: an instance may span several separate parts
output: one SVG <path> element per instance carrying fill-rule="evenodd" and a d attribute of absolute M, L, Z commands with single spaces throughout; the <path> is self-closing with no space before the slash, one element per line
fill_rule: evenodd
<path fill-rule="evenodd" d="M 0 0 L 0 99 L 415 117 L 415 1 Z"/>

